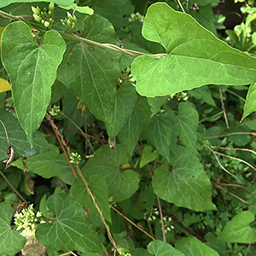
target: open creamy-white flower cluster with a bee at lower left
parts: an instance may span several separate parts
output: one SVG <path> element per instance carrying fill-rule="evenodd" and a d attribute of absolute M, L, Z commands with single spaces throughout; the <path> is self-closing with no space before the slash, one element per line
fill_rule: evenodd
<path fill-rule="evenodd" d="M 20 213 L 15 213 L 15 225 L 17 230 L 22 230 L 20 236 L 35 236 L 35 230 L 38 223 L 44 221 L 41 220 L 41 212 L 35 213 L 33 211 L 33 205 L 22 209 Z"/>

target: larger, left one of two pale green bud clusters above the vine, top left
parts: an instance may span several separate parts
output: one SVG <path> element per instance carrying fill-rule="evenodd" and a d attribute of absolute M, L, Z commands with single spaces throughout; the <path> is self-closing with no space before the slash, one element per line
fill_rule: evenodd
<path fill-rule="evenodd" d="M 46 28 L 50 27 L 53 23 L 53 12 L 55 9 L 55 3 L 50 2 L 48 8 L 41 10 L 39 7 L 35 8 L 32 6 L 32 12 L 34 19 L 43 24 Z"/>

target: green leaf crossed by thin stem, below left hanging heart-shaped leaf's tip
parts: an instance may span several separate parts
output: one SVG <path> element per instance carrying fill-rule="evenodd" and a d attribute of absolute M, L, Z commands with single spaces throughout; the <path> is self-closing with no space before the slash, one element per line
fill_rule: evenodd
<path fill-rule="evenodd" d="M 37 173 L 38 175 L 49 178 L 58 175 L 59 166 L 55 163 L 55 158 L 60 154 L 59 148 L 53 146 L 53 149 L 44 154 L 36 154 L 26 158 L 26 166 L 28 172 Z M 23 162 L 21 159 L 16 160 L 12 166 L 16 166 L 23 170 Z M 70 171 L 71 172 L 71 171 Z"/>

